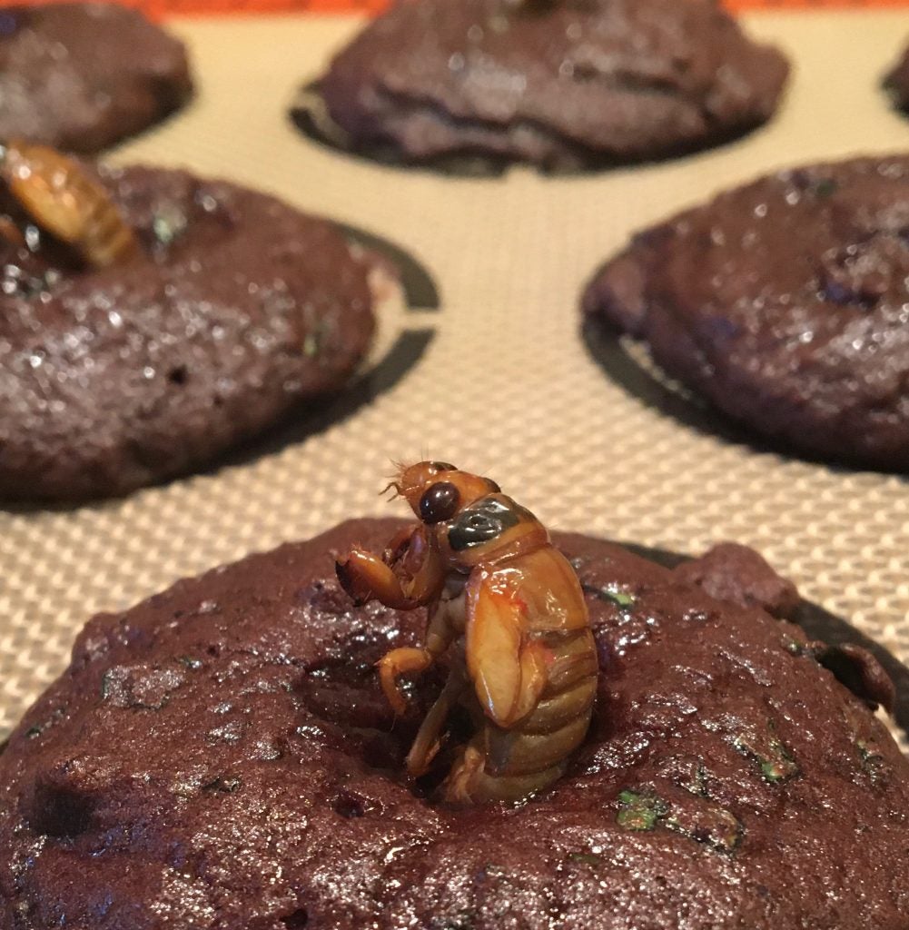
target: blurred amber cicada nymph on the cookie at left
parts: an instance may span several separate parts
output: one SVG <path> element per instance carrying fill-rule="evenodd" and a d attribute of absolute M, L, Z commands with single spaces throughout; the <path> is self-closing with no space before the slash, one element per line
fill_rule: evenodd
<path fill-rule="evenodd" d="M 0 147 L 0 178 L 36 226 L 72 246 L 91 267 L 107 268 L 138 253 L 136 235 L 110 195 L 71 158 L 9 141 Z"/>

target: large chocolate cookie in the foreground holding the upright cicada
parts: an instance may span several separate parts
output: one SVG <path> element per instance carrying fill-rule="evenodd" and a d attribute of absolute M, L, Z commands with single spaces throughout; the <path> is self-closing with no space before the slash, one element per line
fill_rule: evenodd
<path fill-rule="evenodd" d="M 335 578 L 400 526 L 88 624 L 0 756 L 0 930 L 903 930 L 909 763 L 868 694 L 796 626 L 609 543 L 557 537 L 600 658 L 568 773 L 518 805 L 429 800 L 403 755 L 440 681 L 396 719 L 375 672 L 425 612 L 355 608 Z M 759 602 L 769 570 L 736 564 L 726 590 Z"/>

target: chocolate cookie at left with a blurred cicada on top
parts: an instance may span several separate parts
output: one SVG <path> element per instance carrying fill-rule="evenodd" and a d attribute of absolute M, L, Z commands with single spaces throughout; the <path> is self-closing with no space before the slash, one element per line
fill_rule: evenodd
<path fill-rule="evenodd" d="M 343 387 L 370 265 L 328 222 L 182 171 L 98 168 L 138 238 L 87 268 L 0 236 L 0 496 L 124 494 Z M 8 191 L 0 214 L 17 215 Z M 37 235 L 32 227 L 33 232 Z"/>

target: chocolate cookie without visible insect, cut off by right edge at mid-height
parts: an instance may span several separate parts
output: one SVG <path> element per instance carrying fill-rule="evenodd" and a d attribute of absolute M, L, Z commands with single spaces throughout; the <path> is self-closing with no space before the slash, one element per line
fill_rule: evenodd
<path fill-rule="evenodd" d="M 909 469 L 909 157 L 782 171 L 638 236 L 588 316 L 812 458 Z"/>

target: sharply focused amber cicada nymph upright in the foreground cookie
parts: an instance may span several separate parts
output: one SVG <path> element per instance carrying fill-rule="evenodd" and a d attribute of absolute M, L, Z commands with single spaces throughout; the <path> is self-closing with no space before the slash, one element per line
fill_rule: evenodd
<path fill-rule="evenodd" d="M 428 607 L 425 644 L 393 649 L 378 663 L 399 712 L 401 675 L 443 656 L 450 669 L 408 771 L 428 771 L 461 705 L 475 732 L 455 751 L 445 800 L 518 801 L 547 788 L 584 739 L 597 691 L 597 648 L 572 566 L 534 515 L 489 479 L 421 462 L 393 486 L 420 524 L 392 538 L 381 557 L 350 551 L 337 575 L 358 603 Z"/>

